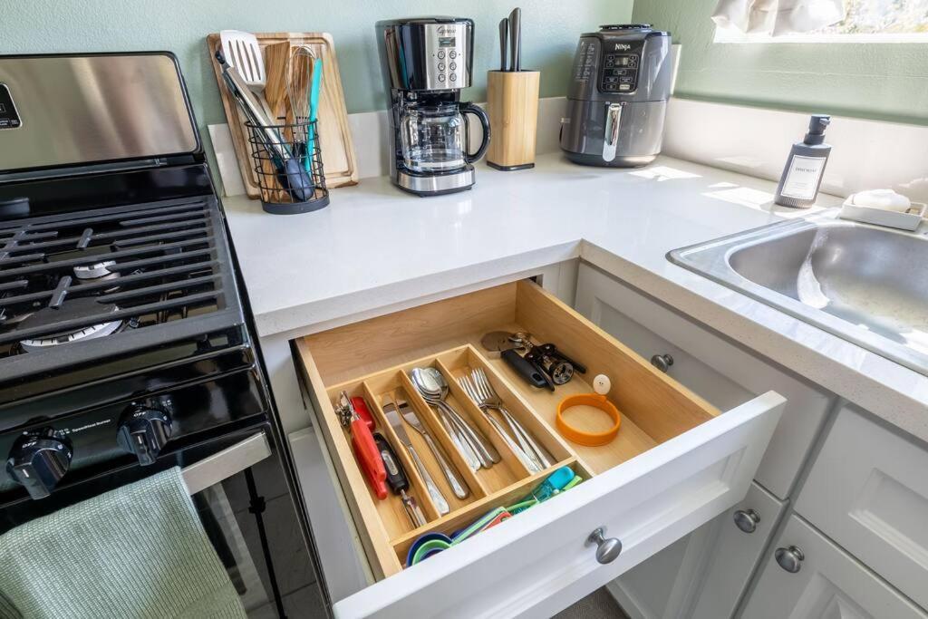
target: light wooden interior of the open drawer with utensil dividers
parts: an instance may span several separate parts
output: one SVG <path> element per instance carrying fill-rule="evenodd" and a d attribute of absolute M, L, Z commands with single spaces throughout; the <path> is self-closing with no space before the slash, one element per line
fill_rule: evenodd
<path fill-rule="evenodd" d="M 555 342 L 565 354 L 585 363 L 588 371 L 586 375 L 574 375 L 555 393 L 537 390 L 523 382 L 501 359 L 486 355 L 479 342 L 491 330 L 529 331 L 536 341 Z M 367 559 L 378 579 L 404 568 L 406 552 L 419 535 L 432 531 L 450 535 L 490 509 L 518 502 L 554 470 L 531 474 L 499 439 L 480 409 L 454 380 L 471 368 L 484 368 L 513 416 L 558 460 L 555 467 L 569 466 L 584 479 L 718 414 L 715 407 L 652 368 L 645 359 L 532 281 L 514 282 L 371 318 L 306 336 L 296 344 L 298 360 L 314 400 L 317 427 L 321 429 Z M 409 369 L 424 366 L 438 368 L 445 375 L 451 388 L 448 403 L 496 445 L 501 462 L 488 470 L 470 471 L 434 411 L 407 376 Z M 588 381 L 599 373 L 612 380 L 609 397 L 623 414 L 619 434 L 609 445 L 599 447 L 568 443 L 554 430 L 558 403 L 569 394 L 591 393 Z M 368 488 L 354 459 L 350 437 L 339 424 L 332 406 L 342 390 L 349 395 L 363 395 L 367 400 L 377 423 L 376 431 L 393 445 L 410 477 L 412 494 L 428 520 L 425 526 L 413 529 L 399 498 L 390 495 L 380 501 Z M 454 496 L 419 432 L 406 425 L 420 458 L 448 501 L 451 510 L 445 516 L 438 514 L 406 449 L 383 417 L 381 403 L 387 394 L 394 400 L 405 399 L 414 408 L 470 486 L 470 496 L 464 499 Z M 582 427 L 580 417 L 572 422 Z M 600 421 L 601 414 L 591 415 L 590 419 Z M 594 424 L 586 429 L 603 428 Z M 517 515 L 508 525 L 518 526 L 518 521 Z"/>

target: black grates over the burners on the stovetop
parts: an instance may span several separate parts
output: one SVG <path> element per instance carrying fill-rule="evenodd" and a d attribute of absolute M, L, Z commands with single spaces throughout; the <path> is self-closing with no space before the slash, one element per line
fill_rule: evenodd
<path fill-rule="evenodd" d="M 240 324 L 224 234 L 212 197 L 0 223 L 0 368 Z"/>

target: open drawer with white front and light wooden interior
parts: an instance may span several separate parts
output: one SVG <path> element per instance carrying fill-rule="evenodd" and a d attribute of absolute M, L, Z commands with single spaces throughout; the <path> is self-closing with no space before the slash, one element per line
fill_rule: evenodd
<path fill-rule="evenodd" d="M 525 330 L 537 342 L 554 342 L 586 364 L 586 375 L 575 375 L 556 393 L 530 387 L 483 350 L 480 339 L 491 330 Z M 316 410 L 316 433 L 329 451 L 336 484 L 344 492 L 377 580 L 337 602 L 334 612 L 340 617 L 557 612 L 740 501 L 784 402 L 770 392 L 719 414 L 527 280 L 323 331 L 296 343 Z M 438 368 L 447 379 L 469 368 L 486 368 L 509 410 L 558 464 L 545 472 L 529 472 L 449 380 L 449 402 L 484 430 L 502 456 L 489 470 L 470 471 L 408 381 L 407 370 L 419 366 Z M 557 404 L 565 395 L 592 392 L 588 383 L 600 373 L 612 380 L 609 398 L 623 414 L 619 434 L 599 447 L 567 442 L 554 429 Z M 349 435 L 333 409 L 342 389 L 365 395 L 372 405 L 377 431 L 404 461 L 427 525 L 414 530 L 398 498 L 379 501 L 368 489 Z M 380 403 L 388 393 L 408 400 L 424 418 L 470 486 L 470 496 L 458 499 L 428 450 L 418 449 L 448 498 L 450 512 L 444 516 L 383 419 Z M 572 422 L 581 425 L 583 419 Z M 419 446 L 417 432 L 408 426 L 407 432 Z M 510 506 L 560 466 L 569 466 L 584 481 L 417 565 L 405 566 L 406 552 L 419 535 L 450 535 L 490 509 Z M 622 544 L 608 563 L 599 563 L 596 544 L 587 541 L 599 527 L 605 529 L 605 537 Z"/>

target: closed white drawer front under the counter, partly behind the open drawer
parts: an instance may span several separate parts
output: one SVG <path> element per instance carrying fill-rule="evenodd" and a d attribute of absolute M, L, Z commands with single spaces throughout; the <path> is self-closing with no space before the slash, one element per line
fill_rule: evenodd
<path fill-rule="evenodd" d="M 577 310 L 639 355 L 671 355 L 667 373 L 713 405 L 728 409 L 774 390 L 787 399 L 756 479 L 787 498 L 831 407 L 819 392 L 648 299 L 589 264 L 580 264 Z"/>

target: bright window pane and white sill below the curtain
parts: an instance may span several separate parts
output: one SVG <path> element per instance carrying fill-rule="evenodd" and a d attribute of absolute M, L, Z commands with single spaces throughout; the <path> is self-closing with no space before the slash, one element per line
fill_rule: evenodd
<path fill-rule="evenodd" d="M 716 43 L 928 43 L 928 0 L 844 0 L 844 21 L 804 34 L 772 37 L 715 29 Z"/>

